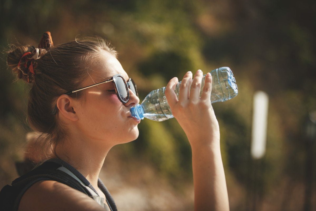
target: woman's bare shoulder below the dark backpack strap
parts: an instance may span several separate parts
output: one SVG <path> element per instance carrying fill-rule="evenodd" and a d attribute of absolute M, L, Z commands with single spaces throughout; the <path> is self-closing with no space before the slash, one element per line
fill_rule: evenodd
<path fill-rule="evenodd" d="M 56 181 L 39 181 L 22 196 L 18 211 L 103 210 L 89 196 Z"/>

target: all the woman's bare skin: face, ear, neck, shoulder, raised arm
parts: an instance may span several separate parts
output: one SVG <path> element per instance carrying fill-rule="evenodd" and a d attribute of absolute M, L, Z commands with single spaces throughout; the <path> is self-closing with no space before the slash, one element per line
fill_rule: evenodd
<path fill-rule="evenodd" d="M 119 61 L 106 51 L 100 53 L 98 64 L 91 69 L 93 71 L 90 71 L 90 77 L 82 87 L 117 73 L 128 79 Z M 200 98 L 202 75 L 201 71 L 197 72 L 189 92 L 192 73 L 185 74 L 179 100 L 173 91 L 178 79 L 172 78 L 166 87 L 166 97 L 192 148 L 194 210 L 229 210 L 219 126 L 210 102 L 212 79 L 208 74 Z M 57 145 L 56 153 L 80 171 L 95 188 L 107 152 L 117 144 L 138 137 L 138 122 L 130 118 L 130 109 L 139 103 L 139 98 L 130 90 L 130 100 L 123 104 L 111 90 L 113 84 L 106 83 L 83 90 L 81 101 L 68 95 L 62 95 L 57 100 L 58 115 L 67 127 L 69 138 Z M 104 197 L 99 189 L 97 191 Z M 19 211 L 26 210 L 104 209 L 87 195 L 67 185 L 40 181 L 30 187 L 21 199 Z"/>

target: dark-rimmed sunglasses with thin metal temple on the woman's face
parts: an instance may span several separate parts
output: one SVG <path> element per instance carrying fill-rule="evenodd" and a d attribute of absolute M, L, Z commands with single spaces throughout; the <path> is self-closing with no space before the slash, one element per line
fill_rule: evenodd
<path fill-rule="evenodd" d="M 130 92 L 128 89 L 130 89 L 138 97 L 137 86 L 136 86 L 135 82 L 133 81 L 133 79 L 130 78 L 126 82 L 121 74 L 116 74 L 113 77 L 111 77 L 110 79 L 107 79 L 107 80 L 102 81 L 100 83 L 92 84 L 90 86 L 86 86 L 86 87 L 83 87 L 83 88 L 80 88 L 77 90 L 72 90 L 70 92 L 65 93 L 64 95 L 70 95 L 70 94 L 75 93 L 77 91 L 85 90 L 85 89 L 88 89 L 90 87 L 94 87 L 94 86 L 109 83 L 109 82 L 114 83 L 116 95 L 118 96 L 119 100 L 122 103 L 126 103 L 130 99 Z M 52 115 L 57 114 L 57 110 L 58 110 L 58 108 L 56 105 L 54 110 L 52 111 Z"/>

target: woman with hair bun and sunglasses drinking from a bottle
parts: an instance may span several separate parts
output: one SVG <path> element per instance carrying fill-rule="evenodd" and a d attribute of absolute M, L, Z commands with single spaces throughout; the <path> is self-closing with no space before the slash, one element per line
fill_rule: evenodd
<path fill-rule="evenodd" d="M 116 52 L 99 38 L 53 47 L 46 32 L 38 48 L 17 47 L 9 52 L 7 62 L 18 78 L 33 83 L 28 123 L 42 133 L 45 158 L 70 164 L 100 198 L 106 198 L 98 186 L 106 154 L 117 144 L 137 139 L 140 123 L 130 113 L 139 103 L 136 85 Z M 208 73 L 200 98 L 202 76 L 200 70 L 195 73 L 189 91 L 192 73 L 185 74 L 179 100 L 174 93 L 178 78 L 172 78 L 166 97 L 192 148 L 194 209 L 229 210 L 219 126 L 210 102 L 212 78 Z M 54 180 L 34 183 L 18 203 L 19 211 L 108 209 L 106 203 L 103 208 L 88 195 Z"/>

